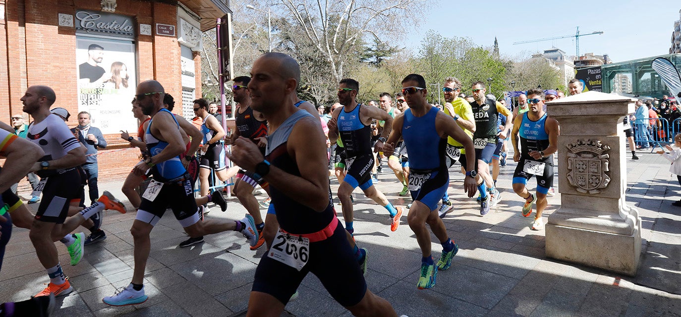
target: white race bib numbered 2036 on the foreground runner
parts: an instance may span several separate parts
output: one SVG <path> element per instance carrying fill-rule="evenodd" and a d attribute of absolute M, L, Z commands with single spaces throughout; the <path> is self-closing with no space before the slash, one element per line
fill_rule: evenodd
<path fill-rule="evenodd" d="M 310 259 L 310 239 L 289 235 L 279 229 L 267 256 L 300 271 Z"/>

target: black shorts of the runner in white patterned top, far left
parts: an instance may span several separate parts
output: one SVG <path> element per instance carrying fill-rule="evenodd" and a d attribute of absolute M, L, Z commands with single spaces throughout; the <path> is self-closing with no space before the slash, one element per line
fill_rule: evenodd
<path fill-rule="evenodd" d="M 74 184 L 78 184 L 74 186 Z M 54 173 L 45 183 L 35 220 L 64 223 L 72 201 L 80 201 L 82 180 L 78 168 Z"/>

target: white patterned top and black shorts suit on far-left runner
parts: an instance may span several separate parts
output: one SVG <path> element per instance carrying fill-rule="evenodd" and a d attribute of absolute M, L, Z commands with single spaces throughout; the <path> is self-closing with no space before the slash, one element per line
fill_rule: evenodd
<path fill-rule="evenodd" d="M 71 133 L 66 122 L 56 114 L 50 114 L 39 123 L 32 122 L 29 126 L 27 139 L 37 144 L 45 152 L 45 156 L 38 161 L 52 161 L 65 156 L 70 150 L 80 148 L 80 142 Z M 44 222 L 64 223 L 71 201 L 80 201 L 82 184 L 82 169 L 67 167 L 63 169 L 46 169 L 35 172 L 41 182 L 47 179 L 42 191 L 35 220 Z"/>

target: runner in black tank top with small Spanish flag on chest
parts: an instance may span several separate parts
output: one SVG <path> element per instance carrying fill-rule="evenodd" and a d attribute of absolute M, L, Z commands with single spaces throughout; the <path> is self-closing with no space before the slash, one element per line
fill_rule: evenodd
<path fill-rule="evenodd" d="M 225 139 L 225 144 L 230 145 L 238 137 L 245 137 L 253 141 L 260 148 L 260 152 L 265 153 L 265 146 L 267 145 L 267 120 L 262 116 L 260 112 L 253 110 L 251 107 L 251 97 L 249 96 L 249 88 L 247 87 L 251 78 L 248 76 L 239 76 L 234 78 L 234 85 L 232 85 L 232 93 L 234 93 L 234 101 L 239 103 L 239 108 L 236 111 L 236 129 L 232 133 L 232 137 L 227 137 Z M 236 174 L 236 182 L 234 182 L 234 194 L 236 198 L 239 199 L 241 205 L 246 208 L 249 214 L 253 217 L 255 221 L 255 227 L 259 233 L 262 233 L 262 229 L 265 227 L 265 223 L 262 221 L 262 215 L 260 214 L 260 207 L 255 195 L 253 195 L 253 189 L 258 185 L 257 179 L 253 177 L 253 173 L 249 173 L 241 169 L 239 173 Z M 268 190 L 267 182 L 259 184 L 262 189 Z M 259 235 L 260 240 L 257 244 L 251 248 L 255 250 L 260 248 L 265 242 L 262 234 Z"/>

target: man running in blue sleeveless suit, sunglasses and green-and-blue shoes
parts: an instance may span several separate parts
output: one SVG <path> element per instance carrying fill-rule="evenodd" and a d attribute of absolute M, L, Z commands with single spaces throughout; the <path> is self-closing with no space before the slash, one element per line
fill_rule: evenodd
<path fill-rule="evenodd" d="M 428 90 L 423 76 L 415 73 L 407 75 L 402 80 L 402 94 L 409 103 L 409 110 L 395 118 L 394 129 L 383 150 L 392 154 L 395 142 L 402 137 L 411 154 L 409 190 L 414 203 L 409 209 L 407 220 L 421 248 L 421 275 L 417 288 L 424 289 L 435 285 L 437 270 L 449 269 L 452 258 L 458 252 L 458 246 L 449 239 L 447 228 L 436 212 L 437 203 L 449 186 L 449 172 L 445 163 L 447 137 L 454 137 L 466 148 L 466 169 L 469 172 L 464 180 L 464 191 L 469 197 L 475 195 L 475 173 L 471 173 L 475 167 L 475 152 L 471 137 L 464 133 L 454 119 L 428 104 Z M 432 258 L 426 223 L 443 247 L 437 266 Z"/>

